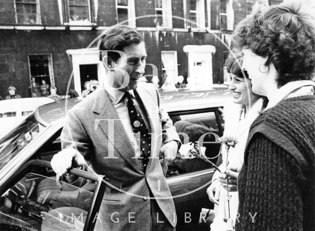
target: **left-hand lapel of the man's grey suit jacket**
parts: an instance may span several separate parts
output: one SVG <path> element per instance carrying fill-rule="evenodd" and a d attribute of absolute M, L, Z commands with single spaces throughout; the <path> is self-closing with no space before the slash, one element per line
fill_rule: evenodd
<path fill-rule="evenodd" d="M 99 89 L 96 99 L 93 107 L 93 112 L 98 114 L 95 120 L 95 129 L 101 128 L 109 141 L 109 150 L 114 152 L 114 149 L 116 149 L 134 170 L 143 174 L 139 161 L 135 158 L 134 147 L 107 92 L 104 89 Z M 114 158 L 117 158 L 117 156 L 114 156 Z"/>

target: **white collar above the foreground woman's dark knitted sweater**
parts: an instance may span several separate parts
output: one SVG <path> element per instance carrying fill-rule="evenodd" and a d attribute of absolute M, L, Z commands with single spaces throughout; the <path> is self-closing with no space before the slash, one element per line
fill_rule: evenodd
<path fill-rule="evenodd" d="M 268 98 L 269 102 L 266 110 L 275 106 L 277 103 L 286 98 L 302 95 L 313 95 L 313 87 L 305 88 L 306 86 L 315 86 L 315 82 L 311 80 L 298 80 L 284 84 L 275 92 L 275 94 L 270 99 Z"/>

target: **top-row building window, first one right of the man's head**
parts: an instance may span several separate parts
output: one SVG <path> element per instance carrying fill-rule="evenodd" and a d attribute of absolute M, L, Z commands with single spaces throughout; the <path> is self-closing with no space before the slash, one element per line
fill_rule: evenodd
<path fill-rule="evenodd" d="M 157 27 L 172 28 L 172 5 L 170 0 L 156 0 L 156 19 Z"/>

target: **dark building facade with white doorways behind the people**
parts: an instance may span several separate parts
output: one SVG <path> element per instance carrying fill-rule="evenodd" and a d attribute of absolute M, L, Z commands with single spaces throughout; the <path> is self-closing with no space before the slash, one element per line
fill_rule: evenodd
<path fill-rule="evenodd" d="M 0 95 L 14 85 L 31 97 L 43 80 L 79 94 L 102 80 L 96 38 L 118 23 L 135 27 L 147 46 L 146 78 L 178 76 L 223 83 L 235 25 L 264 0 L 0 0 Z M 275 2 L 275 1 L 273 1 Z M 33 94 L 34 95 L 34 94 Z"/>

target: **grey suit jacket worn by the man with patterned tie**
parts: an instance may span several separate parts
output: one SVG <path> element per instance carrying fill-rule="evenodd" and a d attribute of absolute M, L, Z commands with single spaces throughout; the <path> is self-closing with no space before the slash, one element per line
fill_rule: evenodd
<path fill-rule="evenodd" d="M 142 83 L 136 91 L 142 99 L 153 133 L 146 172 L 135 158 L 134 148 L 104 89 L 97 89 L 69 110 L 62 131 L 62 148 L 77 149 L 97 174 L 109 179 L 104 198 L 106 203 L 101 207 L 102 228 L 105 230 L 150 230 L 150 191 L 169 223 L 176 226 L 175 206 L 158 154 L 163 143 L 180 139 L 167 113 L 159 110 L 156 87 Z M 128 213 L 132 213 L 134 218 L 131 220 L 136 223 L 128 221 Z M 119 222 L 113 222 L 117 218 Z"/>

